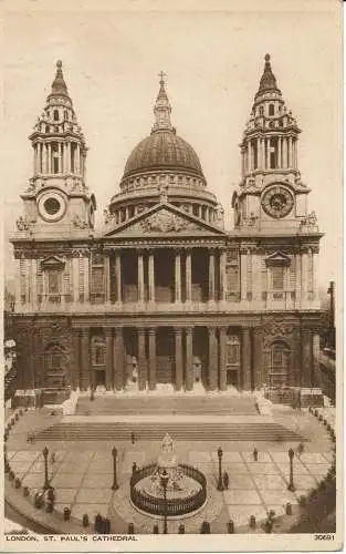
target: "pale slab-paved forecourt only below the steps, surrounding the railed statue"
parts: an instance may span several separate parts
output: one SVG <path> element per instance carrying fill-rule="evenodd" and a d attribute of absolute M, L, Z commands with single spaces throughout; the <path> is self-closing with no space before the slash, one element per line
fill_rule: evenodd
<path fill-rule="evenodd" d="M 158 445 L 157 445 L 158 447 Z M 158 447 L 159 449 L 159 447 Z M 181 449 L 179 449 L 181 450 Z M 158 453 L 158 452 L 157 452 Z M 44 464 L 41 451 L 20 450 L 9 453 L 14 473 L 29 486 L 32 493 L 43 484 Z M 56 493 L 56 510 L 70 507 L 72 515 L 82 519 L 96 513 L 114 519 L 114 511 L 125 523 L 134 522 L 143 532 L 153 530 L 155 521 L 146 517 L 129 503 L 129 476 L 134 462 L 138 466 L 154 460 L 145 450 L 118 450 L 119 490 L 112 491 L 113 460 L 111 453 L 102 451 L 55 451 L 55 462 L 49 464 L 49 475 Z M 229 473 L 229 489 L 222 493 L 216 490 L 218 476 L 217 452 L 188 451 L 185 460 L 200 469 L 207 476 L 209 500 L 201 512 L 192 517 L 179 520 L 187 532 L 198 531 L 203 520 L 214 522 L 214 532 L 231 519 L 235 525 L 245 525 L 250 515 L 264 520 L 269 510 L 284 513 L 286 502 L 296 503 L 302 494 L 313 489 L 327 473 L 332 456 L 329 453 L 306 452 L 294 460 L 294 482 L 296 491 L 287 491 L 287 452 L 259 452 L 253 461 L 252 452 L 224 451 L 222 469 Z M 221 516 L 221 517 L 220 517 Z M 217 520 L 217 521 L 216 521 Z M 171 532 L 178 527 L 171 522 Z M 224 531 L 223 526 L 223 531 Z"/>

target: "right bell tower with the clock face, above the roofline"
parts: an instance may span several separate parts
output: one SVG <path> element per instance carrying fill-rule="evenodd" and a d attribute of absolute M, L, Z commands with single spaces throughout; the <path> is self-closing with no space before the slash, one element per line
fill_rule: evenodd
<path fill-rule="evenodd" d="M 241 181 L 233 194 L 235 228 L 296 232 L 307 216 L 310 188 L 302 183 L 301 133 L 273 74 L 270 54 L 254 96 L 241 150 Z"/>

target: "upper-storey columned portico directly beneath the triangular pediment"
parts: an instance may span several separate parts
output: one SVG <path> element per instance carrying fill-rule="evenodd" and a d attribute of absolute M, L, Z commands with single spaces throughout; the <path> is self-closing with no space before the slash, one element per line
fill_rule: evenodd
<path fill-rule="evenodd" d="M 224 246 L 112 248 L 104 261 L 105 301 L 216 302 L 226 300 Z M 98 264 L 93 264 L 95 288 Z M 94 271 L 93 271 L 94 269 Z"/>

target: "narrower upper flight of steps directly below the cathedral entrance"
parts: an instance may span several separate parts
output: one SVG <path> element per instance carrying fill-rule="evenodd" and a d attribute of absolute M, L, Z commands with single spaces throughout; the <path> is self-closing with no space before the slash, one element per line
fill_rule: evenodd
<path fill-rule="evenodd" d="M 99 396 L 94 400 L 80 397 L 77 414 L 179 414 L 179 416 L 255 416 L 255 398 L 251 396 L 181 396 L 181 397 L 133 397 Z"/>

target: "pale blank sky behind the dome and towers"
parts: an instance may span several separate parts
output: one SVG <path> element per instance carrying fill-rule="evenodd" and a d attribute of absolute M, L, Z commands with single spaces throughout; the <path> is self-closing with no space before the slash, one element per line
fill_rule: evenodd
<path fill-rule="evenodd" d="M 298 167 L 311 187 L 310 211 L 325 233 L 319 281 L 340 264 L 340 31 L 338 2 L 270 4 L 207 0 L 17 2 L 3 23 L 3 247 L 13 275 L 9 233 L 32 176 L 29 134 L 63 61 L 64 78 L 90 147 L 86 183 L 103 209 L 118 192 L 128 155 L 150 133 L 158 73 L 167 74 L 171 121 L 199 155 L 208 187 L 232 227 L 242 133 L 271 54 L 273 73 L 302 129 Z M 279 4 L 281 9 L 279 9 Z M 261 8 L 260 8 L 261 6 Z M 260 10 L 260 11 L 259 11 Z"/>

